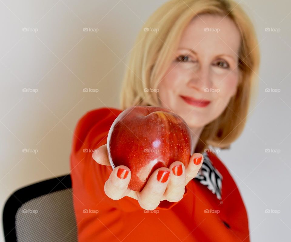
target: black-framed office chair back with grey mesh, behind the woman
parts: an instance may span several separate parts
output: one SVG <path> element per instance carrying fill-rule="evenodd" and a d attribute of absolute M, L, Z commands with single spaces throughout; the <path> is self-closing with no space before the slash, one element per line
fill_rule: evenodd
<path fill-rule="evenodd" d="M 5 241 L 77 241 L 70 174 L 15 191 L 3 210 Z"/>

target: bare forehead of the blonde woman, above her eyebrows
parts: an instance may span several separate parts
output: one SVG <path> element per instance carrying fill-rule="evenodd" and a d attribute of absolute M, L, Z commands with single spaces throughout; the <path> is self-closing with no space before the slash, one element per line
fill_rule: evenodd
<path fill-rule="evenodd" d="M 208 28 L 210 31 L 206 31 Z M 231 54 L 236 56 L 240 47 L 240 33 L 229 17 L 198 15 L 183 31 L 179 48 L 189 48 L 198 54 Z"/>

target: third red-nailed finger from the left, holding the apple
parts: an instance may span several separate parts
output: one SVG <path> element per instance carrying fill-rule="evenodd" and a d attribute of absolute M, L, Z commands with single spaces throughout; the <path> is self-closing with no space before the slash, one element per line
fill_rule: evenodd
<path fill-rule="evenodd" d="M 183 198 L 186 185 L 185 166 L 180 161 L 173 162 L 170 167 L 171 176 L 164 197 L 169 202 L 177 202 Z"/>

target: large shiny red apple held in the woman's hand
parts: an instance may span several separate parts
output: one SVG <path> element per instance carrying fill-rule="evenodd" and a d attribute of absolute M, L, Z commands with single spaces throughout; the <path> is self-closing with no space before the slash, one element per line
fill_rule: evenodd
<path fill-rule="evenodd" d="M 192 136 L 176 113 L 154 106 L 133 106 L 115 119 L 107 138 L 112 169 L 131 170 L 128 188 L 141 191 L 152 173 L 180 161 L 187 167 L 193 153 Z"/>

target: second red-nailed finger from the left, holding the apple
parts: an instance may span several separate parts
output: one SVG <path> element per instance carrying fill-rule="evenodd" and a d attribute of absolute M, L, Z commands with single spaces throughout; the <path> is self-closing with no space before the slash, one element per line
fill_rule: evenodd
<path fill-rule="evenodd" d="M 169 168 L 156 169 L 149 177 L 145 187 L 139 193 L 139 205 L 146 210 L 159 206 L 171 176 Z"/>

